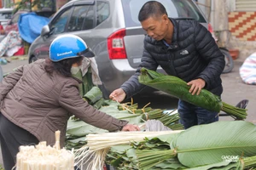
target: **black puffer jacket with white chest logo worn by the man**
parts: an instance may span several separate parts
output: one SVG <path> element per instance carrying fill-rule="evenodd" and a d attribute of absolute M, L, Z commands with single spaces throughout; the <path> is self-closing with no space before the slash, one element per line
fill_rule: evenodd
<path fill-rule="evenodd" d="M 170 20 L 174 26 L 172 44 L 167 47 L 163 41 L 145 37 L 142 63 L 135 75 L 121 86 L 126 97 L 130 98 L 144 87 L 137 80 L 141 67 L 156 71 L 159 65 L 168 75 L 185 82 L 202 78 L 206 81 L 205 88 L 220 96 L 224 55 L 212 34 L 195 20 Z"/>

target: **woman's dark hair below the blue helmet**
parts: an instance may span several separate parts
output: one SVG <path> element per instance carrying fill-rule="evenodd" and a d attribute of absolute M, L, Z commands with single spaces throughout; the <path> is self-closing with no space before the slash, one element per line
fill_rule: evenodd
<path fill-rule="evenodd" d="M 63 59 L 61 61 L 54 62 L 50 60 L 49 58 L 45 59 L 46 65 L 44 66 L 44 69 L 49 74 L 53 73 L 54 71 L 57 71 L 61 73 L 64 77 L 72 77 L 71 73 L 71 67 L 75 63 L 82 62 L 84 59 L 84 56 L 76 57 L 76 58 L 70 58 L 70 59 Z"/>

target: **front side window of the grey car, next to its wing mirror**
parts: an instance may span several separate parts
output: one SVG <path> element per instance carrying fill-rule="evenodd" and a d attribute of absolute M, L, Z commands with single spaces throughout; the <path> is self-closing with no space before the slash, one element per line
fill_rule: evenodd
<path fill-rule="evenodd" d="M 55 20 L 53 20 L 49 25 L 51 34 L 61 34 L 65 31 L 65 26 L 72 10 L 73 8 L 67 8 L 67 10 L 65 10 L 62 14 L 55 17 Z"/>

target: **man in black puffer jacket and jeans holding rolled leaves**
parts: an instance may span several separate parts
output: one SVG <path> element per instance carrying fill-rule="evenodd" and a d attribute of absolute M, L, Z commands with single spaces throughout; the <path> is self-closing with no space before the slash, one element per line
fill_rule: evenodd
<path fill-rule="evenodd" d="M 179 77 L 191 87 L 189 93 L 198 95 L 205 88 L 220 96 L 223 92 L 220 75 L 224 70 L 224 55 L 212 34 L 195 20 L 169 19 L 166 8 L 150 1 L 141 8 L 138 19 L 147 31 L 142 63 L 136 73 L 110 99 L 119 102 L 137 94 L 144 87 L 138 82 L 140 68 L 156 71 L 160 65 L 168 75 Z M 218 113 L 207 111 L 183 100 L 178 112 L 185 128 L 218 121 Z"/>

